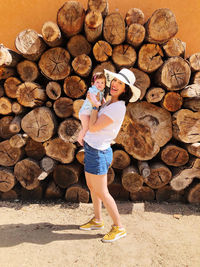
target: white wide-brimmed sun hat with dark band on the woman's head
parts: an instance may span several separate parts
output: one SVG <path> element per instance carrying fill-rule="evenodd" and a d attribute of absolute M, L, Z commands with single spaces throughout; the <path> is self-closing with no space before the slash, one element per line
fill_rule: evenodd
<path fill-rule="evenodd" d="M 134 86 L 135 83 L 135 75 L 134 73 L 129 69 L 121 69 L 120 72 L 115 73 L 109 70 L 104 69 L 104 73 L 106 76 L 106 85 L 110 87 L 110 83 L 114 78 L 117 78 L 118 80 L 122 81 L 123 83 L 127 84 L 133 93 L 133 96 L 129 100 L 129 102 L 135 102 L 139 99 L 141 95 L 141 91 L 139 88 Z"/>

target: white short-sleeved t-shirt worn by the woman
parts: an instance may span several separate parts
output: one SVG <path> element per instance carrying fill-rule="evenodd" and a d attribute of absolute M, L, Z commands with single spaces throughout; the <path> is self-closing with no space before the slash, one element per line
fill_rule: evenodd
<path fill-rule="evenodd" d="M 105 103 L 98 112 L 98 117 L 104 114 L 111 118 L 113 123 L 97 132 L 90 132 L 88 130 L 84 137 L 84 141 L 91 147 L 99 150 L 109 148 L 111 142 L 115 139 L 121 128 L 125 113 L 126 106 L 123 100 L 112 104 L 109 104 L 109 102 Z"/>

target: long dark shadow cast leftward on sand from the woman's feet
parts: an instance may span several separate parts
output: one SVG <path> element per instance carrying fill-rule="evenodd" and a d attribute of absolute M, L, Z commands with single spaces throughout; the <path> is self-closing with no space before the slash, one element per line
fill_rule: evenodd
<path fill-rule="evenodd" d="M 69 230 L 68 232 L 66 232 Z M 77 230 L 77 233 L 74 233 Z M 51 223 L 0 225 L 0 247 L 12 247 L 21 243 L 47 244 L 58 240 L 84 240 L 102 235 L 78 229 L 78 225 Z"/>

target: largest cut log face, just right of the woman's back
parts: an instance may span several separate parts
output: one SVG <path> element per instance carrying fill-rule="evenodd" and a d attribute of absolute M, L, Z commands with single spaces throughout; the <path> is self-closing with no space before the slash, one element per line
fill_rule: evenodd
<path fill-rule="evenodd" d="M 138 160 L 152 159 L 172 137 L 171 115 L 147 102 L 129 103 L 116 138 Z"/>

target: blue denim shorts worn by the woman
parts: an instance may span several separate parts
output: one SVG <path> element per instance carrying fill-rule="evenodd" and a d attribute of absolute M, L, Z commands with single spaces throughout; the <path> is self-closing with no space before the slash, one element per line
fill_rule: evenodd
<path fill-rule="evenodd" d="M 96 175 L 106 174 L 108 173 L 112 159 L 113 152 L 111 147 L 105 150 L 99 150 L 84 142 L 84 163 L 86 172 Z"/>

